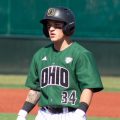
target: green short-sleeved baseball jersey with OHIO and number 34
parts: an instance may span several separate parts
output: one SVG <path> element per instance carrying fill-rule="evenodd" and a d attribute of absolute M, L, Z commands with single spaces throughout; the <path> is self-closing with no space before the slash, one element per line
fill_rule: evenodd
<path fill-rule="evenodd" d="M 41 92 L 41 107 L 77 108 L 83 89 L 103 89 L 93 55 L 76 42 L 63 51 L 56 51 L 53 44 L 41 48 L 33 57 L 25 85 Z"/>

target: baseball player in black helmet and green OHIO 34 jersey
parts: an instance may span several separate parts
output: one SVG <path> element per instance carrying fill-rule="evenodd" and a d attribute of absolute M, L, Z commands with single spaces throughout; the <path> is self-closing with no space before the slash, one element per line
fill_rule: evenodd
<path fill-rule="evenodd" d="M 86 120 L 93 93 L 103 89 L 92 53 L 70 36 L 75 30 L 73 12 L 49 8 L 40 21 L 51 44 L 33 56 L 25 85 L 30 88 L 17 120 L 38 103 L 35 120 Z"/>

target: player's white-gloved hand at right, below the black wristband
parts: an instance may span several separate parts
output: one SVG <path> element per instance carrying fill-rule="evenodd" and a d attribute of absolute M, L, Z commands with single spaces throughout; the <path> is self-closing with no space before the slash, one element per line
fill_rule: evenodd
<path fill-rule="evenodd" d="M 83 110 L 81 110 L 81 109 L 77 109 L 76 111 L 75 111 L 75 113 L 74 113 L 74 119 L 75 120 L 87 120 L 86 119 L 86 114 L 85 114 L 85 112 L 83 111 Z"/>

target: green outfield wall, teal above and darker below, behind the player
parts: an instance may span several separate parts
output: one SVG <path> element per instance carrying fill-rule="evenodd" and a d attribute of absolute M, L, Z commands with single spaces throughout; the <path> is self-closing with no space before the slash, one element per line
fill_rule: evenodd
<path fill-rule="evenodd" d="M 120 0 L 0 0 L 0 74 L 26 74 L 33 54 L 49 44 L 39 21 L 48 7 L 76 16 L 72 39 L 91 50 L 102 75 L 120 75 Z"/>

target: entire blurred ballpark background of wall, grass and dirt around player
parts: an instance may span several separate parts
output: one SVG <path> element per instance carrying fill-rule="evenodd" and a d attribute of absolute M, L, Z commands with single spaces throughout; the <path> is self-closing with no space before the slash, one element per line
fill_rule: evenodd
<path fill-rule="evenodd" d="M 120 0 L 0 0 L 0 120 L 17 117 L 32 56 L 50 43 L 39 21 L 54 6 L 74 12 L 72 40 L 93 53 L 101 74 L 104 90 L 94 96 L 88 120 L 119 120 Z"/>

